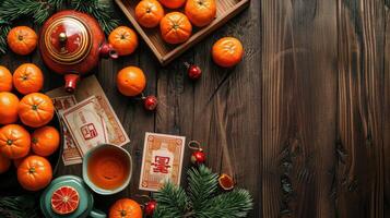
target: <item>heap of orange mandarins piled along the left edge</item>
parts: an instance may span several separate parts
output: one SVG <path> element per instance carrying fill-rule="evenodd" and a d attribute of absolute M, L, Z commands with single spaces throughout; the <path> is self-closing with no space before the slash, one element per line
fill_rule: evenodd
<path fill-rule="evenodd" d="M 46 158 L 60 144 L 58 130 L 47 125 L 55 108 L 39 93 L 43 85 L 44 75 L 33 63 L 20 65 L 13 74 L 0 66 L 0 173 L 10 170 L 13 161 L 17 181 L 28 191 L 50 183 L 52 170 Z"/>

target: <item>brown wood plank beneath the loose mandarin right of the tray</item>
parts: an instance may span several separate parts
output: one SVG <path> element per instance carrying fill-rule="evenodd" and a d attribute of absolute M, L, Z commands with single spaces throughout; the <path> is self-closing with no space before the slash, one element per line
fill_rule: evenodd
<path fill-rule="evenodd" d="M 156 132 L 180 134 L 188 141 L 201 142 L 208 166 L 216 172 L 233 174 L 238 186 L 250 190 L 256 202 L 252 217 L 259 217 L 261 207 L 260 134 L 253 131 L 260 126 L 258 20 L 259 2 L 252 1 L 250 9 L 225 28 L 164 68 L 158 73 L 161 106 L 156 113 Z M 245 37 L 247 33 L 256 37 Z M 227 35 L 240 38 L 247 52 L 239 65 L 225 70 L 212 62 L 210 51 L 216 39 Z M 203 69 L 200 81 L 188 78 L 184 61 L 193 61 Z M 185 162 L 188 167 L 190 154 L 187 149 Z M 185 178 L 184 173 L 181 181 Z"/>

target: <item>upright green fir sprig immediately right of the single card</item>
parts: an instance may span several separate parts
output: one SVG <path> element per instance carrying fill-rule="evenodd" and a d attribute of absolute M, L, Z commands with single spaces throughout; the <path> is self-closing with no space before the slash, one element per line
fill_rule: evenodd
<path fill-rule="evenodd" d="M 206 201 L 215 195 L 217 191 L 217 174 L 204 165 L 199 170 L 188 170 L 188 196 L 192 203 L 194 213 L 202 210 Z"/>

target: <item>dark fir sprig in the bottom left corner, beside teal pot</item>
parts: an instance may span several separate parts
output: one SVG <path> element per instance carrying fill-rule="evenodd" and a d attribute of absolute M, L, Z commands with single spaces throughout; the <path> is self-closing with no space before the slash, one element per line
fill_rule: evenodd
<path fill-rule="evenodd" d="M 36 199 L 33 196 L 8 196 L 0 198 L 0 217 L 38 218 Z"/>

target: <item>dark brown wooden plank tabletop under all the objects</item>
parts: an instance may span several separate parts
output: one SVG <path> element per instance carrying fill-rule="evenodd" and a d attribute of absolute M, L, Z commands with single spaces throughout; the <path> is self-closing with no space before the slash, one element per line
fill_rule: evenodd
<path fill-rule="evenodd" d="M 200 141 L 208 165 L 250 191 L 251 217 L 390 217 L 386 2 L 252 0 L 165 68 L 143 41 L 130 57 L 103 60 L 95 72 L 131 138 L 126 148 L 134 171 L 126 191 L 96 196 L 97 207 L 145 194 L 138 190 L 144 133 L 158 132 Z M 212 44 L 223 36 L 245 46 L 236 68 L 221 69 L 211 60 Z M 29 57 L 10 52 L 0 61 L 11 70 L 23 62 L 39 64 L 45 90 L 62 83 L 37 51 Z M 185 61 L 203 69 L 200 81 L 187 77 Z M 127 65 L 146 73 L 145 93 L 159 99 L 155 113 L 118 93 L 116 73 Z M 186 167 L 189 157 L 186 150 Z M 80 175 L 81 166 L 61 166 L 60 174 Z"/>

